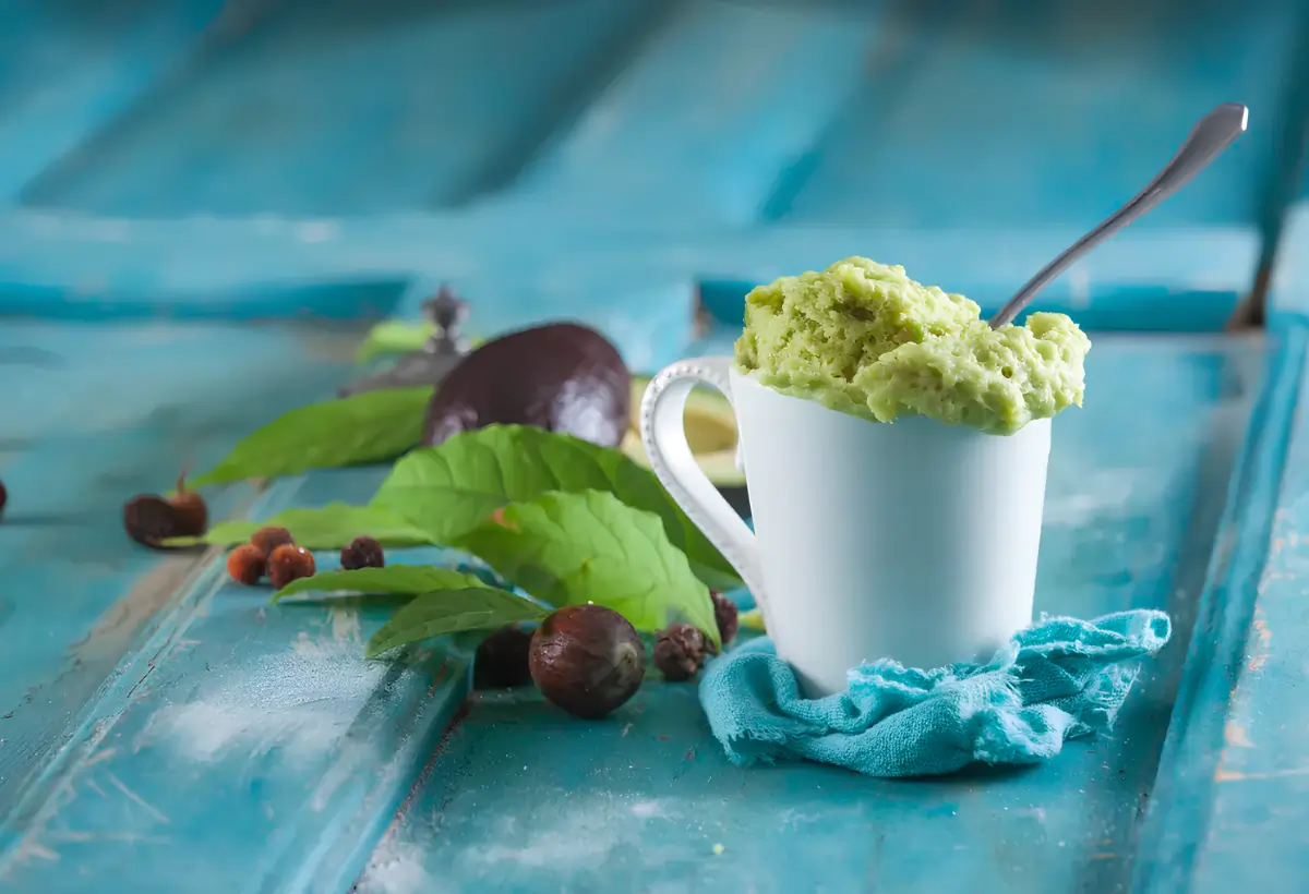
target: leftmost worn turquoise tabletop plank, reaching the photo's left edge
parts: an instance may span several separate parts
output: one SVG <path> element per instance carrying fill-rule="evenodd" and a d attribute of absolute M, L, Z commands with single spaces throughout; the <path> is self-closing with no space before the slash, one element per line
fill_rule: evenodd
<path fill-rule="evenodd" d="M 213 462 L 253 425 L 330 394 L 355 338 L 249 326 L 4 326 L 7 813 L 195 564 L 131 547 L 123 500 L 170 487 L 183 465 Z M 251 495 L 245 486 L 229 488 L 212 510 L 237 510 Z"/>

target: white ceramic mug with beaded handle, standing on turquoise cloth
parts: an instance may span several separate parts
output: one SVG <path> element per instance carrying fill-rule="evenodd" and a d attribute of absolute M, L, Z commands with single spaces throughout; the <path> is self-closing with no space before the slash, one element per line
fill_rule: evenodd
<path fill-rule="evenodd" d="M 687 445 L 698 382 L 736 411 L 754 533 Z M 651 381 L 640 420 L 660 480 L 754 593 L 806 694 L 842 691 L 851 668 L 877 658 L 988 658 L 1030 623 L 1049 419 L 1009 436 L 874 423 L 700 357 Z"/>

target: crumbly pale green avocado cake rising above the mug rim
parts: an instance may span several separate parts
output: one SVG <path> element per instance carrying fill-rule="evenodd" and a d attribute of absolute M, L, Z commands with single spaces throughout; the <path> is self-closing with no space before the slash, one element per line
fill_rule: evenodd
<path fill-rule="evenodd" d="M 736 364 L 761 385 L 865 419 L 918 415 L 1012 435 L 1081 406 L 1088 351 L 1064 314 L 992 330 L 962 295 L 848 258 L 753 289 Z"/>

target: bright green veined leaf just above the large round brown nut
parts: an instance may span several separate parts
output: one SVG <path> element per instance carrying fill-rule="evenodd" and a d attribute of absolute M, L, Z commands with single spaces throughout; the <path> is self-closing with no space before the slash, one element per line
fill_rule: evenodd
<path fill-rule="evenodd" d="M 660 517 L 607 491 L 514 503 L 503 521 L 483 522 L 458 546 L 550 605 L 594 602 L 647 631 L 685 620 L 721 647 L 709 590 Z"/>

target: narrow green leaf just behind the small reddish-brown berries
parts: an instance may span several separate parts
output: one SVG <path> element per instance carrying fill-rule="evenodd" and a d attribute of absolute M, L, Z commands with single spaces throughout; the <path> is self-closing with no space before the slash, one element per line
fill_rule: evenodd
<path fill-rule="evenodd" d="M 427 546 L 432 539 L 394 512 L 376 507 L 329 503 L 318 509 L 283 509 L 266 521 L 219 522 L 204 537 L 175 537 L 165 546 L 245 543 L 260 527 L 285 527 L 306 550 L 339 550 L 356 537 L 372 537 L 382 546 Z"/>

